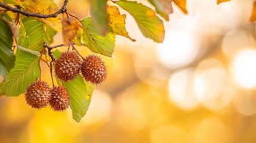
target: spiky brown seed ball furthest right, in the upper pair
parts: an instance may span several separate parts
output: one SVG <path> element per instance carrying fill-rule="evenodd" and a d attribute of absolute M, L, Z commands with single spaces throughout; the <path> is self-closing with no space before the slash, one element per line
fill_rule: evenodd
<path fill-rule="evenodd" d="M 107 78 L 107 67 L 97 55 L 88 55 L 82 63 L 81 71 L 85 80 L 96 85 Z"/>

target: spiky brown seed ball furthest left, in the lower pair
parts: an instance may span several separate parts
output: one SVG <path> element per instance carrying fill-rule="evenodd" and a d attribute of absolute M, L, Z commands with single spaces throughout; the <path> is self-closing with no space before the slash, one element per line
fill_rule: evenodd
<path fill-rule="evenodd" d="M 47 82 L 41 80 L 33 82 L 25 93 L 27 104 L 32 108 L 46 107 L 50 100 L 50 90 L 51 88 Z"/>

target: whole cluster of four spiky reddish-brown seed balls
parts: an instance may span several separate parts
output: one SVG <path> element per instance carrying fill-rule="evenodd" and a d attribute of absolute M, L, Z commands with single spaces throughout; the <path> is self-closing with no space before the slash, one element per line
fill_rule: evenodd
<path fill-rule="evenodd" d="M 88 55 L 83 61 L 76 52 L 63 52 L 55 61 L 55 76 L 64 82 L 74 80 L 81 71 L 87 82 L 98 85 L 107 77 L 107 68 L 97 55 Z M 50 104 L 54 111 L 64 111 L 69 107 L 70 95 L 64 86 L 50 88 L 47 82 L 36 81 L 28 86 L 25 98 L 32 108 L 44 108 Z"/>

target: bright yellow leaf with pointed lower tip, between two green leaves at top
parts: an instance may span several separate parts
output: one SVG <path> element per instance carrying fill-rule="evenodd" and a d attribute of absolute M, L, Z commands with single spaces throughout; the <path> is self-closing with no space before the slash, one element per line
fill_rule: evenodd
<path fill-rule="evenodd" d="M 135 41 L 128 35 L 128 32 L 125 29 L 126 15 L 120 15 L 118 7 L 113 5 L 107 7 L 107 13 L 109 13 L 109 26 L 112 27 L 113 32 L 117 35 L 129 38 L 131 41 Z"/>

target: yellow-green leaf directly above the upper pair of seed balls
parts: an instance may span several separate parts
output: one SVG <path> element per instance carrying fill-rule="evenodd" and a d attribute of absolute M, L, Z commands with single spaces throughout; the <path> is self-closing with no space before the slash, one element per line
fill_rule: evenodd
<path fill-rule="evenodd" d="M 115 34 L 107 32 L 106 36 L 101 36 L 92 24 L 90 17 L 85 17 L 82 21 L 84 29 L 79 29 L 75 38 L 78 45 L 87 46 L 92 52 L 112 57 L 115 48 Z"/>

